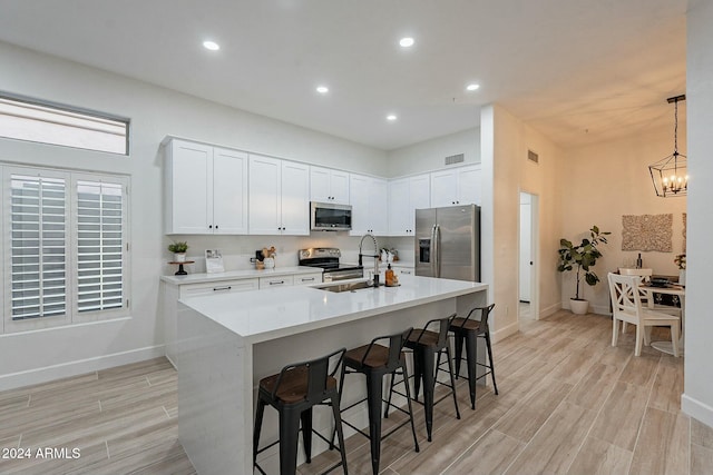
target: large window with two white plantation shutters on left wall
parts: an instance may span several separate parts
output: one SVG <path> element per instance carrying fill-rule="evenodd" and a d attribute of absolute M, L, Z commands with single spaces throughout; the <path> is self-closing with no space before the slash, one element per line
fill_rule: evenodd
<path fill-rule="evenodd" d="M 4 331 L 125 315 L 128 180 L 2 168 Z"/>

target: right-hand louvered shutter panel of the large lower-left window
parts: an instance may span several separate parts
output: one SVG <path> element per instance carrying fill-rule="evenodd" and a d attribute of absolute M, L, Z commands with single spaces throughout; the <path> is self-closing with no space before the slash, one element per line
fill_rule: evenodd
<path fill-rule="evenodd" d="M 77 180 L 76 191 L 77 310 L 123 308 L 124 186 Z"/>

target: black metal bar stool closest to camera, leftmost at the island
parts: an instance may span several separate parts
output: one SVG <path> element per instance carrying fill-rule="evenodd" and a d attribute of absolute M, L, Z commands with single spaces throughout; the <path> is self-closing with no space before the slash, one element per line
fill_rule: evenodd
<path fill-rule="evenodd" d="M 268 376 L 260 380 L 257 392 L 257 410 L 255 414 L 255 431 L 253 433 L 253 465 L 262 473 L 265 472 L 257 465 L 257 454 L 275 444 L 280 444 L 280 474 L 294 475 L 297 469 L 297 437 L 300 434 L 300 420 L 302 420 L 302 438 L 306 462 L 312 462 L 312 433 L 334 447 L 332 441 L 312 428 L 312 408 L 318 404 L 332 406 L 334 415 L 334 428 L 339 436 L 339 451 L 341 462 L 330 467 L 329 473 L 342 466 L 346 474 L 346 454 L 344 453 L 344 433 L 340 416 L 340 394 L 336 387 L 334 374 L 344 358 L 346 348 L 339 349 L 330 355 L 310 362 L 287 365 L 280 374 Z M 338 357 L 339 355 L 339 357 Z M 330 360 L 336 359 L 334 368 L 330 372 Z M 325 403 L 329 400 L 329 403 Z M 280 414 L 280 438 L 257 449 L 260 444 L 260 431 L 263 423 L 265 406 L 270 405 Z"/>

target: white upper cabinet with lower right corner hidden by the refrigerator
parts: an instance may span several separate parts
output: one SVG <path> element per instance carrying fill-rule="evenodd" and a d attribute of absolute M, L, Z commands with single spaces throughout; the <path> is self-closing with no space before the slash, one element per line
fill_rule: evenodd
<path fill-rule="evenodd" d="M 389 236 L 413 236 L 416 210 L 430 207 L 430 175 L 389 181 Z"/>

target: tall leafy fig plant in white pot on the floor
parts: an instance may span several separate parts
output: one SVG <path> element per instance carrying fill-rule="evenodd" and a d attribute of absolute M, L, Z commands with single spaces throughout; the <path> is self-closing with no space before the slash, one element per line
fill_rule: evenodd
<path fill-rule="evenodd" d="M 559 263 L 557 264 L 557 270 L 560 273 L 577 270 L 577 287 L 575 297 L 569 299 L 569 308 L 573 313 L 584 315 L 587 313 L 589 303 L 579 298 L 579 283 L 582 281 L 582 275 L 584 274 L 585 281 L 595 286 L 599 281 L 599 277 L 592 270 L 592 267 L 597 263 L 597 259 L 602 257 L 602 253 L 598 249 L 598 245 L 606 244 L 606 236 L 612 232 L 599 231 L 597 226 L 592 226 L 589 229 L 589 238 L 582 239 L 578 245 L 572 244 L 572 241 L 563 238 L 559 240 Z"/>

